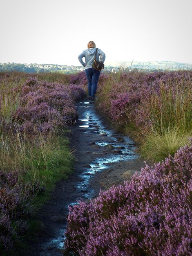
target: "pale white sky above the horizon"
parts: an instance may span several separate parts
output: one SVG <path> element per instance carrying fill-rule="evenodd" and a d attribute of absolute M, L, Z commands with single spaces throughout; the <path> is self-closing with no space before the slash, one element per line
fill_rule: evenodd
<path fill-rule="evenodd" d="M 192 63 L 192 0 L 0 0 L 0 63 L 80 65 L 93 40 L 110 61 Z"/>

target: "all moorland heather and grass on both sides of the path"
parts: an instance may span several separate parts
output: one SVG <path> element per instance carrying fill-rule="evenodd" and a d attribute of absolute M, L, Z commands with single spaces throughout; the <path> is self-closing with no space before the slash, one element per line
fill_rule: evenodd
<path fill-rule="evenodd" d="M 71 173 L 69 128 L 86 85 L 85 72 L 0 73 L 0 252 L 22 246 L 35 211 Z M 96 109 L 156 164 L 71 207 L 66 254 L 192 254 L 191 89 L 190 70 L 101 74 Z"/>

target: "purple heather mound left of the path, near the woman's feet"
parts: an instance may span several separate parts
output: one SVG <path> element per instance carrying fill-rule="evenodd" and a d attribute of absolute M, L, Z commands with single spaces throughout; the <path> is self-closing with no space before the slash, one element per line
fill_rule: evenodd
<path fill-rule="evenodd" d="M 29 77 L 21 88 L 20 107 L 13 121 L 21 132 L 58 132 L 78 117 L 74 101 L 85 97 L 78 85 L 41 82 Z"/>

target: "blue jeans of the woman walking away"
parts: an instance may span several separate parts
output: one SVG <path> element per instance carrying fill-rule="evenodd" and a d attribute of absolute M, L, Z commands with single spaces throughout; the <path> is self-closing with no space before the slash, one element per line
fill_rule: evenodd
<path fill-rule="evenodd" d="M 88 81 L 88 96 L 95 97 L 97 91 L 97 83 L 99 81 L 100 71 L 93 67 L 85 70 Z"/>

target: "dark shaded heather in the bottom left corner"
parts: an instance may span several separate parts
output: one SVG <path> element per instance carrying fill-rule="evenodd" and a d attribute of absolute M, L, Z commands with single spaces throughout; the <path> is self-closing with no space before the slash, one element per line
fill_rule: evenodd
<path fill-rule="evenodd" d="M 31 201 L 44 190 L 39 182 L 31 186 L 20 180 L 19 171 L 0 172 L 0 253 L 11 249 L 16 236 L 25 234 Z"/>

